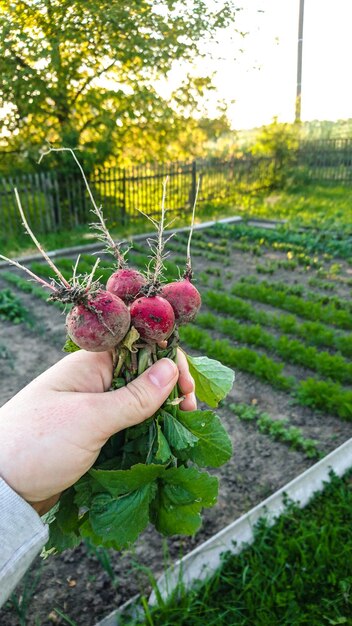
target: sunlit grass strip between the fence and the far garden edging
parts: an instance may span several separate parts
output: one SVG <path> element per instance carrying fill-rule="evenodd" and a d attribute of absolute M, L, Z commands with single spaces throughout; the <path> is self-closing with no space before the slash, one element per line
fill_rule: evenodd
<path fill-rule="evenodd" d="M 199 204 L 196 221 L 220 220 L 234 215 L 240 215 L 244 219 L 285 219 L 298 228 L 310 226 L 318 230 L 338 231 L 337 237 L 341 231 L 352 230 L 350 193 L 342 185 L 291 184 L 275 192 L 235 193 L 228 198 Z M 189 215 L 185 212 L 183 216 L 176 217 L 172 228 L 187 226 L 188 222 Z M 126 226 L 114 226 L 111 234 L 122 240 L 150 230 L 150 224 L 145 219 L 138 218 Z M 40 240 L 46 250 L 57 250 L 94 243 L 96 237 L 88 226 L 79 226 L 56 233 L 43 233 Z M 6 256 L 24 256 L 35 252 L 32 242 L 25 234 L 22 237 L 11 237 L 6 233 L 6 236 L 0 238 L 0 249 Z"/>

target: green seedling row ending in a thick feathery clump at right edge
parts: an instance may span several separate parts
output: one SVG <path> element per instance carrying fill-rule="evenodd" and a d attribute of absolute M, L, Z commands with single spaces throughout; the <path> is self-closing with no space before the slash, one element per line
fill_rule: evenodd
<path fill-rule="evenodd" d="M 299 381 L 294 376 L 285 376 L 283 363 L 249 348 L 235 348 L 228 339 L 214 340 L 210 333 L 194 325 L 181 329 L 180 336 L 190 348 L 205 350 L 209 357 L 221 359 L 231 368 L 248 372 L 273 388 L 292 394 L 303 406 L 352 420 L 352 391 L 343 389 L 339 383 L 311 377 Z"/>

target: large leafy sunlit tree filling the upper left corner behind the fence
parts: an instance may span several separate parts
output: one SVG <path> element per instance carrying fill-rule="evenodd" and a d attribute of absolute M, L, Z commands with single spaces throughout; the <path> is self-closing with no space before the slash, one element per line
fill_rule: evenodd
<path fill-rule="evenodd" d="M 6 149 L 80 146 L 92 165 L 133 128 L 173 129 L 177 98 L 165 102 L 156 79 L 196 57 L 234 15 L 232 0 L 0 0 Z M 209 84 L 188 78 L 179 111 Z"/>

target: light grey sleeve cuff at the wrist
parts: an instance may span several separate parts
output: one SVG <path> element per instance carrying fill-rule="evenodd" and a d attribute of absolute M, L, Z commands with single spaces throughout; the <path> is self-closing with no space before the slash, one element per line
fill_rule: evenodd
<path fill-rule="evenodd" d="M 0 478 L 0 607 L 48 539 L 35 510 Z"/>

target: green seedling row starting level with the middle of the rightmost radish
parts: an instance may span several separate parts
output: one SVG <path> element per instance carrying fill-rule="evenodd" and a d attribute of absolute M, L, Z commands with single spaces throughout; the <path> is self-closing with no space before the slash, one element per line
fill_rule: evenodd
<path fill-rule="evenodd" d="M 337 350 L 347 358 L 352 357 L 352 335 L 340 334 L 320 322 L 299 322 L 294 315 L 262 311 L 241 298 L 212 290 L 203 293 L 203 304 L 232 318 L 275 328 L 287 335 L 300 337 L 308 345 Z"/>

